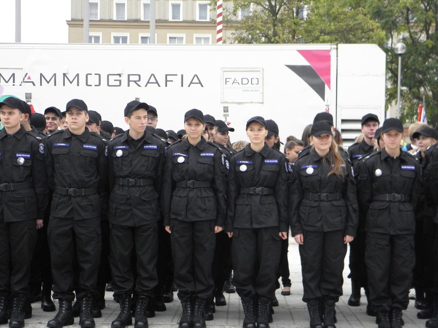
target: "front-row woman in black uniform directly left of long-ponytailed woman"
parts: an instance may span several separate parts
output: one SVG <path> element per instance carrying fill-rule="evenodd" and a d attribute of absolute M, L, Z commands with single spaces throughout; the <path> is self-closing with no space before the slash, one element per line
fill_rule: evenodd
<path fill-rule="evenodd" d="M 250 143 L 230 162 L 225 230 L 233 238 L 233 283 L 243 305 L 243 326 L 254 328 L 257 321 L 259 328 L 268 328 L 280 240 L 287 238 L 286 162 L 265 143 L 262 117 L 249 119 L 246 133 Z"/>

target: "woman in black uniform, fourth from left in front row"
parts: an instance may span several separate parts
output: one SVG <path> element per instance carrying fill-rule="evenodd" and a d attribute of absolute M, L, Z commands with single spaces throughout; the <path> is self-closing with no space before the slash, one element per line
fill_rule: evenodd
<path fill-rule="evenodd" d="M 203 328 L 205 302 L 214 288 L 214 234 L 222 231 L 225 222 L 229 164 L 220 147 L 201 137 L 205 129 L 202 111 L 187 111 L 184 122 L 187 138 L 167 148 L 161 201 L 182 305 L 179 327 Z"/>

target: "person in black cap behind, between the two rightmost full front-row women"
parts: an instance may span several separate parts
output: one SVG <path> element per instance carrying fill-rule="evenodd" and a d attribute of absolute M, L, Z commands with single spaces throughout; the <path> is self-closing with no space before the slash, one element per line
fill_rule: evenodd
<path fill-rule="evenodd" d="M 358 163 L 370 155 L 374 151 L 374 135 L 379 128 L 379 118 L 377 115 L 368 113 L 363 115 L 361 120 L 361 130 L 363 140 L 359 143 L 354 143 L 348 147 L 350 161 L 353 165 L 353 170 L 357 171 Z M 365 217 L 362 211 L 359 211 L 359 225 L 357 227 L 356 238 L 350 243 L 350 275 L 351 279 L 351 295 L 348 299 L 348 305 L 360 305 L 360 288 L 365 287 L 365 293 L 368 299 L 367 289 L 367 269 L 365 267 L 365 231 L 363 226 Z M 370 307 L 367 305 L 367 313 L 372 314 Z"/>

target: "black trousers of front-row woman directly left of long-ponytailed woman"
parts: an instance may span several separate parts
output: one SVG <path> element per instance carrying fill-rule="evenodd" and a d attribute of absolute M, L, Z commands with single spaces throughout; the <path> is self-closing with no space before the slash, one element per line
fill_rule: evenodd
<path fill-rule="evenodd" d="M 272 300 L 281 250 L 278 227 L 234 228 L 231 249 L 233 284 L 240 298 Z"/>

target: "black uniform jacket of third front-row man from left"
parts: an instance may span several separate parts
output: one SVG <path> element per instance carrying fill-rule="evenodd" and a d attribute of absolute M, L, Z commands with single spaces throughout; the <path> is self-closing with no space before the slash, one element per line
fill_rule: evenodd
<path fill-rule="evenodd" d="M 108 219 L 111 223 L 138 226 L 160 219 L 165 148 L 148 131 L 137 141 L 129 136 L 129 130 L 109 141 Z"/>

